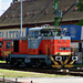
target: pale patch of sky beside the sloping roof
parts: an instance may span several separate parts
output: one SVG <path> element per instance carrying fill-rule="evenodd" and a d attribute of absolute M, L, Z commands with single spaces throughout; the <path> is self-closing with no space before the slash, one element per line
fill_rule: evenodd
<path fill-rule="evenodd" d="M 10 7 L 12 0 L 0 0 L 0 17 Z"/>

